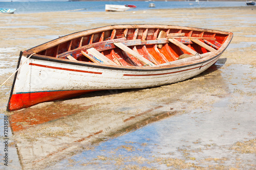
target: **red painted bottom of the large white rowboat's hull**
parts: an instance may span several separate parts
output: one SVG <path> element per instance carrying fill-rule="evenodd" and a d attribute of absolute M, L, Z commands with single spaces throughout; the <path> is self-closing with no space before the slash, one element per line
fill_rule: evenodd
<path fill-rule="evenodd" d="M 15 111 L 28 108 L 42 102 L 73 98 L 74 96 L 85 94 L 91 91 L 97 90 L 45 91 L 12 94 L 7 106 L 7 111 Z"/>

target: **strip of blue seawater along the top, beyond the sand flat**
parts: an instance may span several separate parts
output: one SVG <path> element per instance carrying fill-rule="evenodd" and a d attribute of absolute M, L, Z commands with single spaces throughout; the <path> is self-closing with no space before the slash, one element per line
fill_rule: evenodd
<path fill-rule="evenodd" d="M 149 8 L 148 4 L 154 3 L 156 8 Z M 15 8 L 17 14 L 38 13 L 53 11 L 105 11 L 105 4 L 113 5 L 135 5 L 134 11 L 148 9 L 174 9 L 174 8 L 207 8 L 207 7 L 241 7 L 246 6 L 244 2 L 152 2 L 152 1 L 90 1 L 90 2 L 0 2 L 1 8 Z"/>

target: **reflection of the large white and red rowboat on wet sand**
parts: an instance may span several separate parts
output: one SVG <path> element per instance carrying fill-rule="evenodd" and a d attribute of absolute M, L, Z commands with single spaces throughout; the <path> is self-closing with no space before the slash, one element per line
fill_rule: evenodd
<path fill-rule="evenodd" d="M 137 114 L 124 114 L 116 109 L 98 112 L 94 111 L 97 104 L 66 103 L 46 103 L 46 106 L 28 108 L 11 116 L 11 129 L 17 137 L 17 152 L 23 168 L 49 166 L 90 148 L 92 143 L 136 130 L 175 113 L 158 111 L 162 106 Z"/>

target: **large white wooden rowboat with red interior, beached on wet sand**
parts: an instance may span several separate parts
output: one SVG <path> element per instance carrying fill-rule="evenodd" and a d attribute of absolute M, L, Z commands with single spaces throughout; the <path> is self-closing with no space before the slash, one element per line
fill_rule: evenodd
<path fill-rule="evenodd" d="M 21 52 L 7 110 L 96 90 L 161 86 L 214 64 L 230 32 L 166 25 L 114 25 Z M 183 56 L 187 58 L 182 58 Z"/>

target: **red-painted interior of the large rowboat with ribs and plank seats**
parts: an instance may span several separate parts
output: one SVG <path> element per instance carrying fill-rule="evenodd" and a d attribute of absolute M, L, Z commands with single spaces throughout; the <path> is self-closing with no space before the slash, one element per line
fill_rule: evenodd
<path fill-rule="evenodd" d="M 84 31 L 86 32 L 86 31 Z M 225 32 L 224 32 L 225 33 Z M 203 29 L 116 28 L 78 32 L 39 45 L 37 55 L 119 66 L 154 66 L 218 53 L 228 33 Z M 54 44 L 54 45 L 52 45 Z M 31 48 L 30 54 L 34 53 Z M 183 57 L 182 57 L 183 56 Z"/>

